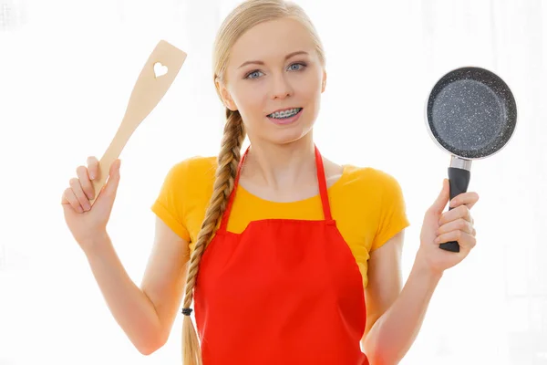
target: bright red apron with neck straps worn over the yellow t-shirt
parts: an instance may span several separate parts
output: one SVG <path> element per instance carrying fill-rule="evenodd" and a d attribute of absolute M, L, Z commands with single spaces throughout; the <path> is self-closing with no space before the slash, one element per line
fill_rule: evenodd
<path fill-rule="evenodd" d="M 315 147 L 325 220 L 264 219 L 234 234 L 226 227 L 248 151 L 196 278 L 203 364 L 367 365 L 363 280 L 331 216 L 321 154 Z"/>

